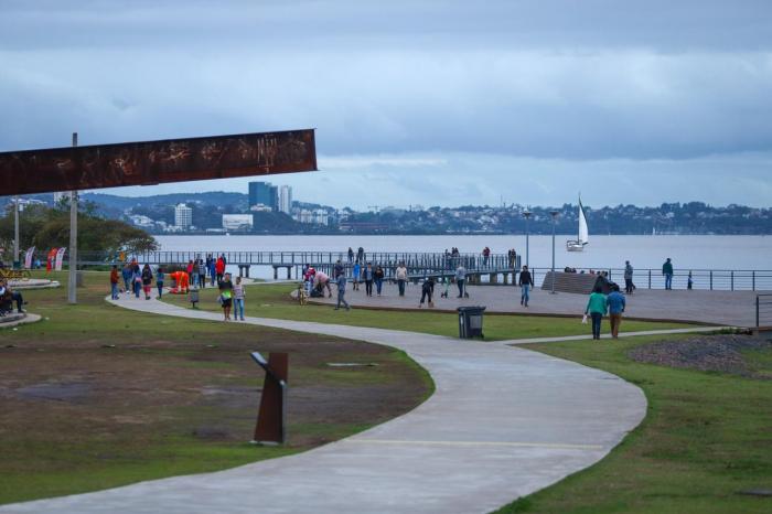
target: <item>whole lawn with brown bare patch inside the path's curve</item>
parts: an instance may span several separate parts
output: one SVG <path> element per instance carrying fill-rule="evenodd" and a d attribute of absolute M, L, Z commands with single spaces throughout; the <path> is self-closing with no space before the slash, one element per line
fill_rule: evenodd
<path fill-rule="evenodd" d="M 65 274 L 54 278 L 66 283 Z M 0 330 L 0 504 L 296 453 L 404 414 L 433 388 L 404 352 L 133 312 L 105 302 L 107 274 L 85 278 L 77 306 L 66 303 L 66 287 L 24 291 L 43 321 Z M 247 442 L 264 377 L 254 350 L 290 353 L 281 447 Z M 84 394 L 35 396 L 52 385 Z"/>

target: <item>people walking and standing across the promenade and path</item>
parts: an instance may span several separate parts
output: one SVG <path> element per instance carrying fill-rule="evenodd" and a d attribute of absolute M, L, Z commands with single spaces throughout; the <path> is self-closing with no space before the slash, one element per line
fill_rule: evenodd
<path fill-rule="evenodd" d="M 458 258 L 460 255 L 457 247 L 446 250 L 446 256 L 449 258 Z M 482 249 L 481 256 L 483 265 L 489 263 L 491 255 L 491 249 L 487 246 Z M 349 281 L 352 282 L 352 291 L 360 291 L 360 286 L 364 283 L 364 295 L 366 297 L 382 296 L 384 292 L 384 283 L 387 281 L 396 285 L 397 295 L 399 297 L 406 296 L 406 288 L 411 277 L 404 261 L 400 261 L 393 268 L 389 267 L 389 272 L 387 274 L 387 268 L 385 268 L 384 265 L 366 260 L 366 254 L 362 246 L 360 246 L 356 251 L 350 247 L 346 256 L 347 263 L 344 264 L 342 259 L 339 259 L 329 269 L 330 274 L 317 270 L 310 264 L 303 266 L 302 279 L 305 293 L 311 298 L 324 297 L 325 293 L 328 298 L 332 298 L 334 288 L 337 296 L 335 304 L 336 310 L 341 308 L 345 308 L 346 310 L 351 309 L 345 298 Z M 507 251 L 507 257 L 510 264 L 516 263 L 517 254 L 514 248 Z M 422 277 L 422 279 L 416 280 L 417 282 L 421 282 L 420 299 L 418 301 L 419 308 L 423 308 L 425 306 L 429 308 L 435 307 L 435 289 L 438 285 L 442 288 L 442 292 L 440 293 L 442 298 L 449 297 L 452 283 L 455 283 L 458 288 L 457 298 L 469 298 L 467 269 L 462 260 L 463 259 L 458 259 L 452 263 L 454 267 L 454 269 L 451 268 L 453 269 L 452 272 L 440 275 L 439 277 L 426 276 Z M 245 288 L 240 277 L 236 278 L 235 282 L 233 281 L 230 274 L 226 272 L 226 265 L 227 260 L 225 255 L 219 255 L 218 257 L 207 255 L 205 259 L 202 257 L 191 259 L 185 267 L 184 278 L 190 280 L 193 288 L 205 288 L 207 282 L 210 286 L 216 285 L 219 291 L 217 300 L 223 308 L 223 319 L 225 321 L 230 320 L 233 312 L 233 318 L 235 320 L 240 319 L 243 321 L 245 319 Z M 577 269 L 566 267 L 564 272 L 576 274 Z M 580 270 L 579 272 L 583 274 L 585 270 Z M 180 271 L 175 271 L 171 274 L 171 276 L 179 283 L 178 274 L 180 274 Z M 612 338 L 616 338 L 622 313 L 626 306 L 625 295 L 633 295 L 636 289 L 633 281 L 634 269 L 631 263 L 626 260 L 623 274 L 624 293 L 619 285 L 610 280 L 607 271 L 590 269 L 588 274 L 596 277 L 592 292 L 585 309 L 585 315 L 589 317 L 592 321 L 592 336 L 593 339 L 600 338 L 601 320 L 603 315 L 609 314 L 611 334 Z M 671 258 L 667 258 L 663 265 L 662 275 L 665 278 L 665 289 L 671 290 L 674 275 Z M 110 272 L 111 298 L 119 299 L 120 293 L 126 292 L 133 293 L 136 298 L 140 298 L 140 295 L 143 293 L 144 299 L 149 300 L 151 298 L 150 293 L 153 280 L 158 289 L 158 298 L 161 298 L 164 290 L 165 278 L 167 274 L 162 267 L 158 267 L 153 272 L 148 264 L 140 267 L 136 259 L 127 263 L 120 272 L 118 267 L 114 266 Z M 121 279 L 122 289 L 120 287 Z M 516 285 L 519 286 L 521 289 L 521 306 L 523 308 L 528 308 L 530 295 L 535 288 L 535 280 L 527 265 L 523 266 L 519 272 L 517 272 Z M 687 285 L 687 288 L 691 289 L 691 274 L 688 276 Z M 21 295 L 9 291 L 10 288 L 7 283 L 0 286 L 0 301 L 3 301 L 2 304 L 0 304 L 0 310 L 3 306 L 7 307 L 12 303 L 12 301 L 17 301 L 18 309 L 21 311 L 21 302 L 23 301 Z"/>

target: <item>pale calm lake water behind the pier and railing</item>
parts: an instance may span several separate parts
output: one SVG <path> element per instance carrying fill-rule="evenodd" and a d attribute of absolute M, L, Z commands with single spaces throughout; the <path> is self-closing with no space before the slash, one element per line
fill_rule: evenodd
<path fill-rule="evenodd" d="M 769 236 L 591 236 L 585 251 L 566 250 L 566 235 L 555 237 L 555 266 L 572 268 L 622 268 L 630 260 L 636 269 L 661 268 L 666 257 L 677 269 L 772 269 L 772 237 Z M 346 251 L 360 246 L 366 251 L 480 253 L 515 248 L 525 264 L 525 236 L 157 236 L 162 250 L 215 251 Z M 530 267 L 551 266 L 551 236 L 530 236 Z M 258 269 L 267 277 L 269 269 Z"/>

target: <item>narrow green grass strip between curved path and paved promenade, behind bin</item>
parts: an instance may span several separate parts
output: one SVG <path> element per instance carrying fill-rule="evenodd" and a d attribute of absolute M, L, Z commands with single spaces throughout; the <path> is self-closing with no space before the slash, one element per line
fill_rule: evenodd
<path fill-rule="evenodd" d="M 247 287 L 245 311 L 247 315 L 261 318 L 278 318 L 297 321 L 315 321 L 320 323 L 335 323 L 353 326 L 373 326 L 378 329 L 406 330 L 409 332 L 422 332 L 439 335 L 458 336 L 458 315 L 447 312 L 430 311 L 395 311 L 352 309 L 333 310 L 330 306 L 308 304 L 300 306 L 289 296 L 297 286 L 288 283 L 258 285 Z M 219 311 L 216 302 L 217 290 L 207 288 L 200 291 L 201 302 L 199 307 L 211 311 Z M 182 307 L 190 308 L 185 295 L 167 295 L 164 300 Z M 608 323 L 604 323 L 608 330 Z M 636 332 L 642 330 L 676 329 L 689 326 L 682 323 L 655 323 L 650 321 L 630 321 L 622 323 L 623 332 Z M 489 314 L 484 319 L 485 339 L 501 341 L 510 339 L 543 338 L 558 335 L 588 334 L 588 325 L 581 324 L 579 318 L 550 318 Z"/>

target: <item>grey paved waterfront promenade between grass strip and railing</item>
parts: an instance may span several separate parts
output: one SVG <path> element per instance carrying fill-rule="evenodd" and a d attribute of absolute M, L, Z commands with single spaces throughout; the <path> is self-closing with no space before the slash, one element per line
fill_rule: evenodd
<path fill-rule="evenodd" d="M 346 291 L 346 300 L 354 307 L 417 309 L 421 298 L 420 285 L 407 285 L 405 297 L 397 295 L 397 286 L 384 283 L 382 296 L 365 296 L 364 286 L 358 291 Z M 528 308 L 519 304 L 521 289 L 514 286 L 470 286 L 470 298 L 457 298 L 455 285 L 450 287 L 450 298 L 440 298 L 442 286 L 435 287 L 435 309 L 455 310 L 461 306 L 485 306 L 485 312 L 525 314 L 575 315 L 577 322 L 585 312 L 587 295 L 573 295 L 536 289 L 530 293 Z M 758 291 L 757 291 L 758 292 Z M 629 295 L 624 315 L 648 320 L 672 320 L 732 326 L 755 325 L 755 295 L 753 291 L 703 290 L 648 290 L 637 289 Z M 334 303 L 335 298 L 314 298 L 313 302 Z M 426 308 L 426 307 L 425 307 Z M 588 329 L 589 331 L 589 329 Z"/>

